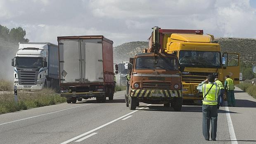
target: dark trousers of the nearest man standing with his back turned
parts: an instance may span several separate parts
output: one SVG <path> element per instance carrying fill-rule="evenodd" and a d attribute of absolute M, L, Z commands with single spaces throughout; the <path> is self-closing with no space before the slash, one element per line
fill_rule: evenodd
<path fill-rule="evenodd" d="M 202 106 L 203 112 L 203 135 L 205 139 L 210 138 L 210 122 L 211 122 L 211 139 L 216 139 L 217 133 L 217 120 L 218 120 L 218 106 L 217 105 L 206 105 Z"/>

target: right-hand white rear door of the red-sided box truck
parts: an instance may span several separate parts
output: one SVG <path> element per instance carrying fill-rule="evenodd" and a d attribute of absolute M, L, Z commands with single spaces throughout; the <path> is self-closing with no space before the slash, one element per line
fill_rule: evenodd
<path fill-rule="evenodd" d="M 102 39 L 83 39 L 83 83 L 103 82 Z"/>

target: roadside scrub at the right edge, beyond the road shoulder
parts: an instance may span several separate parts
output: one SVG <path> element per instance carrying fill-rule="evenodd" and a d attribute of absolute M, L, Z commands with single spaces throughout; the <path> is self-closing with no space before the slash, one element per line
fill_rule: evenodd
<path fill-rule="evenodd" d="M 245 80 L 243 83 L 240 83 L 236 86 L 256 99 L 256 85 L 254 84 L 253 86 L 251 81 L 252 80 Z M 256 78 L 254 78 L 254 82 L 256 82 Z"/>

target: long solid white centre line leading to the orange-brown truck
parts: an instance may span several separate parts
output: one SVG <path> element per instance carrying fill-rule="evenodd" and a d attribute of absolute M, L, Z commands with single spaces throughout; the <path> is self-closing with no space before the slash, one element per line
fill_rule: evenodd
<path fill-rule="evenodd" d="M 151 104 L 149 104 L 149 105 L 147 105 L 147 106 L 150 106 L 150 105 L 151 105 Z M 143 109 L 143 108 L 144 108 L 144 107 L 142 107 L 142 108 L 140 108 L 140 109 Z M 106 124 L 104 124 L 104 125 L 101 125 L 101 126 L 99 126 L 99 127 L 96 127 L 96 128 L 93 129 L 93 130 L 90 130 L 90 131 L 88 131 L 88 132 L 83 133 L 82 135 L 78 135 L 78 136 L 76 136 L 76 137 L 74 137 L 74 138 L 72 138 L 72 139 L 69 139 L 69 140 L 67 140 L 67 141 L 65 141 L 65 142 L 62 142 L 61 144 L 67 144 L 67 143 L 69 143 L 69 142 L 72 142 L 73 140 L 76 140 L 76 139 L 78 139 L 78 138 L 80 138 L 80 137 L 83 137 L 83 136 L 85 136 L 85 135 L 88 135 L 88 134 L 91 133 L 91 132 L 94 132 L 94 131 L 96 131 L 96 130 L 99 130 L 99 129 L 101 129 L 102 127 L 105 127 L 105 126 L 107 126 L 107 125 L 109 125 L 109 124 L 111 124 L 111 123 L 116 122 L 117 120 L 120 120 L 120 119 L 122 119 L 122 118 L 124 118 L 124 117 L 126 117 L 126 116 L 129 116 L 130 114 L 135 113 L 136 111 L 138 111 L 138 110 L 132 111 L 132 112 L 130 112 L 130 113 L 124 115 L 124 116 L 121 116 L 121 117 L 119 117 L 119 118 L 116 118 L 116 119 L 112 120 L 112 121 L 109 122 L 109 123 L 106 123 Z"/>

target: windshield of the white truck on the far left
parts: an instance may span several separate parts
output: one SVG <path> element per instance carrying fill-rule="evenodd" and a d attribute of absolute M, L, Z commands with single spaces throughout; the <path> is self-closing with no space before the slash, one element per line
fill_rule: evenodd
<path fill-rule="evenodd" d="M 42 58 L 16 57 L 15 66 L 17 68 L 41 68 Z"/>

